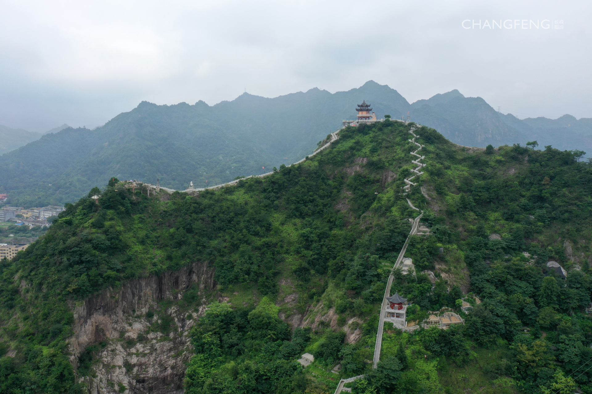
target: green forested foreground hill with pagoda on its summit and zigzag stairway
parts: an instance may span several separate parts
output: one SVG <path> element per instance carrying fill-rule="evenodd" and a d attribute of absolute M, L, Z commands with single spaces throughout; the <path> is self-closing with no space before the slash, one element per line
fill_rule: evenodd
<path fill-rule="evenodd" d="M 187 393 L 321 394 L 363 374 L 356 393 L 592 392 L 592 166 L 551 147 L 463 148 L 422 126 L 425 173 L 404 195 L 414 127 L 346 128 L 303 164 L 195 196 L 149 198 L 116 179 L 89 190 L 41 240 L 1 262 L 0 389 L 165 392 L 165 381 Z M 412 302 L 410 324 L 442 307 L 465 324 L 385 327 L 372 370 L 365 360 L 385 282 L 419 214 L 407 198 L 432 235 L 410 237 L 416 275 L 395 271 L 391 292 Z M 85 300 L 107 294 L 117 304 L 120 286 L 194 262 L 214 272 L 211 291 L 130 308 L 123 319 L 137 336 L 102 334 L 69 359 L 81 330 L 73 311 Z M 158 380 L 137 361 L 138 349 L 184 332 L 189 350 L 170 350 L 191 353 L 183 382 Z M 303 369 L 295 360 L 305 351 L 315 361 Z M 111 353 L 124 361 L 112 364 Z"/>

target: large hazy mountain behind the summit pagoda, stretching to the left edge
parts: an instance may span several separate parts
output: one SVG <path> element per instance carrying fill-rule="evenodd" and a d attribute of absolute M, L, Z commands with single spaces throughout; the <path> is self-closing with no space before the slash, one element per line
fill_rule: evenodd
<path fill-rule="evenodd" d="M 267 99 L 245 93 L 208 106 L 143 102 L 92 131 L 65 129 L 0 157 L 2 193 L 9 203 L 43 206 L 74 201 L 105 178 L 138 179 L 184 189 L 267 172 L 310 154 L 319 140 L 355 115 L 356 103 L 376 97 L 379 113 L 408 105 L 388 86 L 368 82 L 331 94 Z M 330 115 L 328 115 L 330 114 Z M 206 183 L 207 181 L 207 183 Z"/>

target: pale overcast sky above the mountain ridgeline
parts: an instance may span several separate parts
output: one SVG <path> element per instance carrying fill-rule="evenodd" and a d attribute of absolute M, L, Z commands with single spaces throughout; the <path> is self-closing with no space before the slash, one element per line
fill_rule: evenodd
<path fill-rule="evenodd" d="M 519 118 L 592 118 L 590 1 L 0 5 L 0 124 L 13 128 L 94 127 L 142 100 L 214 105 L 245 89 L 333 93 L 370 79 L 409 102 L 459 89 Z"/>

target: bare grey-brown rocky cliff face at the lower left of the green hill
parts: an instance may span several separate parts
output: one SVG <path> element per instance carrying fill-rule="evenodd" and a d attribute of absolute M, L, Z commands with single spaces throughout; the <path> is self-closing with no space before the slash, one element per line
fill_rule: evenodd
<path fill-rule="evenodd" d="M 192 286 L 198 286 L 201 306 L 181 311 L 175 301 Z M 97 345 L 95 362 L 81 378 L 89 394 L 182 393 L 185 364 L 193 350 L 187 334 L 214 288 L 214 269 L 194 263 L 134 279 L 74 307 L 70 349 L 75 369 L 88 355 L 85 350 Z"/>

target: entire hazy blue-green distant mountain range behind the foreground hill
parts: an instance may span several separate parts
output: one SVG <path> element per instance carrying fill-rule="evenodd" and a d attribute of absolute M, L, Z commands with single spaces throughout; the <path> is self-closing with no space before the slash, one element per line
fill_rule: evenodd
<path fill-rule="evenodd" d="M 213 106 L 141 102 L 92 131 L 63 125 L 41 136 L 4 128 L 6 151 L 26 145 L 0 157 L 0 193 L 11 204 L 44 206 L 76 200 L 110 177 L 186 188 L 190 181 L 204 187 L 267 172 L 310 154 L 343 119 L 355 119 L 362 100 L 379 118 L 409 115 L 460 145 L 536 140 L 540 147 L 592 153 L 592 119 L 520 120 L 458 90 L 410 104 L 397 90 L 369 81 L 347 92 L 314 88 L 272 99 L 244 93 Z"/>

